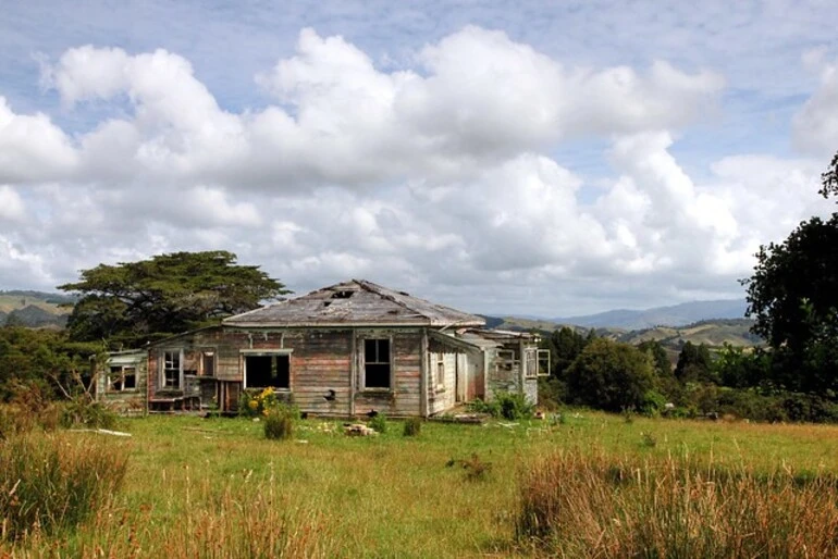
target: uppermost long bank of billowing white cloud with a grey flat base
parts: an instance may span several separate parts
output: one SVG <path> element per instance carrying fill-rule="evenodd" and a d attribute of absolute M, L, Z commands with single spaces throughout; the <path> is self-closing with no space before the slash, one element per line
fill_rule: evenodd
<path fill-rule="evenodd" d="M 646 73 L 566 69 L 479 27 L 428 45 L 416 61 L 384 72 L 342 37 L 304 29 L 295 55 L 258 77 L 281 104 L 238 114 L 165 50 L 79 47 L 46 73 L 69 108 L 130 105 L 128 117 L 65 146 L 77 181 L 144 175 L 274 190 L 468 176 L 560 138 L 682 126 L 723 86 L 665 62 Z"/>

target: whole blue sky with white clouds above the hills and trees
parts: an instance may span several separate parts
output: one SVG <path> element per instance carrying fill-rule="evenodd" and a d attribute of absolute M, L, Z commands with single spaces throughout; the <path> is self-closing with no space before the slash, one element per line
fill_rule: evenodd
<path fill-rule="evenodd" d="M 828 215 L 838 2 L 0 0 L 0 289 L 230 250 L 494 314 L 743 297 Z"/>

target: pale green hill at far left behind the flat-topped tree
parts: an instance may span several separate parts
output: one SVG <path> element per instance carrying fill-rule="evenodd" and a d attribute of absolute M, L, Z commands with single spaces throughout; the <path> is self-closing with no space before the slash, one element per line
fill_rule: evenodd
<path fill-rule="evenodd" d="M 0 325 L 63 327 L 75 298 L 62 294 L 14 290 L 0 291 Z"/>

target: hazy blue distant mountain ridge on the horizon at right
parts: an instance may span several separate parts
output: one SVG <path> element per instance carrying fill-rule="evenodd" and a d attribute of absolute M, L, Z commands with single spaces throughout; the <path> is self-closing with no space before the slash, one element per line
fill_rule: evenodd
<path fill-rule="evenodd" d="M 744 299 L 693 301 L 646 310 L 620 309 L 597 314 L 552 319 L 551 322 L 589 328 L 643 330 L 661 325 L 678 327 L 704 320 L 744 319 L 747 307 Z"/>

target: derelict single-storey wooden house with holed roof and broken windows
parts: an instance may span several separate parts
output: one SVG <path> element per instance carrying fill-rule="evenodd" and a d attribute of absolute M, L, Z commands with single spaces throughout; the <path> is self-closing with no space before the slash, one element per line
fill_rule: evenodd
<path fill-rule="evenodd" d="M 98 397 L 126 411 L 235 411 L 273 389 L 303 412 L 430 417 L 498 392 L 535 402 L 544 350 L 527 333 L 353 280 L 112 353 Z"/>

